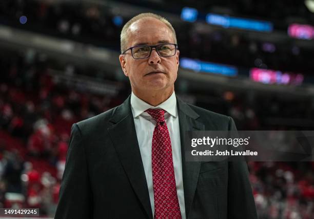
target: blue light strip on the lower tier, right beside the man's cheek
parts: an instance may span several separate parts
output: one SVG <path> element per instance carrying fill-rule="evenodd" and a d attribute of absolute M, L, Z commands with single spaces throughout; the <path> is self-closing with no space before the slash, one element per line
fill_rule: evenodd
<path fill-rule="evenodd" d="M 213 74 L 220 74 L 225 76 L 237 76 L 238 68 L 234 66 L 216 64 L 211 62 L 197 61 L 189 58 L 180 59 L 180 66 L 182 68 L 193 71 L 209 72 Z"/>

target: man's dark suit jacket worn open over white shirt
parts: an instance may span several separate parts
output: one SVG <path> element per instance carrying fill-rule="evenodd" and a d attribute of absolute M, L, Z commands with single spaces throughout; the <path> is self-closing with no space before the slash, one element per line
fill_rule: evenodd
<path fill-rule="evenodd" d="M 235 130 L 232 118 L 176 99 L 187 218 L 256 219 L 245 161 L 185 162 L 185 131 Z M 55 218 L 153 218 L 130 96 L 73 124 Z"/>

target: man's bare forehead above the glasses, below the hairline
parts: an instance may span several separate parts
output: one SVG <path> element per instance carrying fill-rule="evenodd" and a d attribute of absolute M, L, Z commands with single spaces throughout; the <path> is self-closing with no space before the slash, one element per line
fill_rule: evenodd
<path fill-rule="evenodd" d="M 174 43 L 170 28 L 152 17 L 134 22 L 128 32 L 129 46 Z"/>

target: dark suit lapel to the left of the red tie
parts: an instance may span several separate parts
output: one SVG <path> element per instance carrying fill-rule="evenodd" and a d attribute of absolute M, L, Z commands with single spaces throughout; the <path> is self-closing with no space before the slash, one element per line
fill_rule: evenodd
<path fill-rule="evenodd" d="M 139 197 L 148 217 L 152 219 L 147 182 L 131 111 L 130 96 L 122 105 L 116 108 L 110 121 L 113 125 L 108 128 L 108 132 L 115 150 L 129 177 L 134 192 Z"/>

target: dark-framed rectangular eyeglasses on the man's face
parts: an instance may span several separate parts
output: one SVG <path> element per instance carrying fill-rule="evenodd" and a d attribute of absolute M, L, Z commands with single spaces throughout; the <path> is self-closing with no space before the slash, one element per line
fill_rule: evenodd
<path fill-rule="evenodd" d="M 174 56 L 176 50 L 178 49 L 178 45 L 173 43 L 165 43 L 155 46 L 133 46 L 122 52 L 122 54 L 124 54 L 126 51 L 130 49 L 132 57 L 134 59 L 146 59 L 150 57 L 152 48 L 156 49 L 156 52 L 159 54 L 159 56 L 170 57 Z"/>

